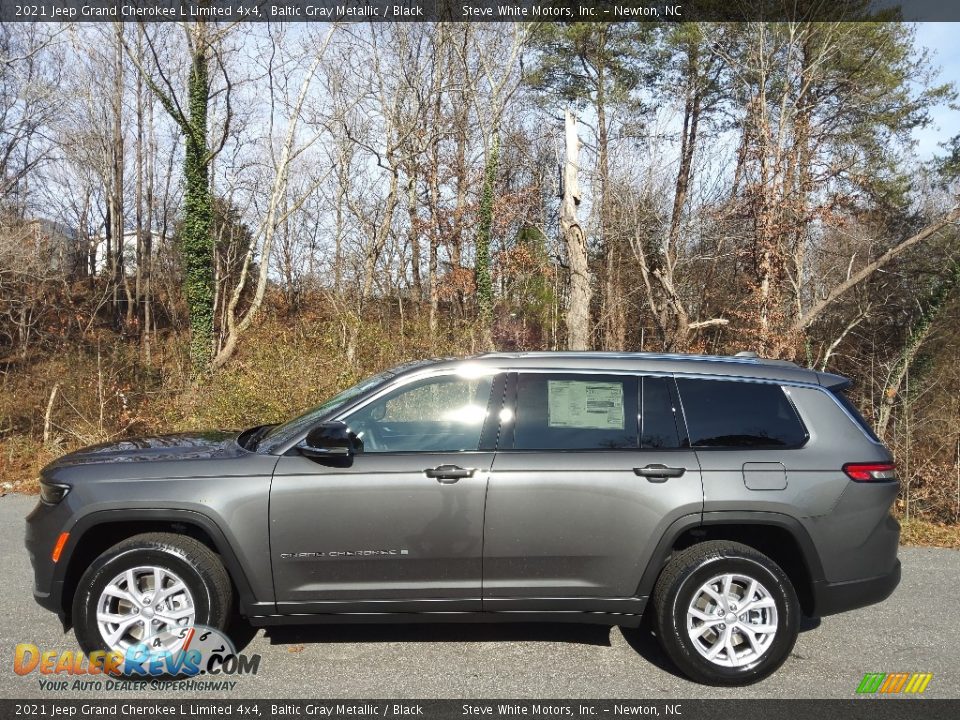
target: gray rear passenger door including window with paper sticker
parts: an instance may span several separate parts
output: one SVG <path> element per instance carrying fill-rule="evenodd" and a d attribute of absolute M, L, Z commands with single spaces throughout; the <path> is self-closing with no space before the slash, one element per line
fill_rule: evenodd
<path fill-rule="evenodd" d="M 703 504 L 672 378 L 521 372 L 506 398 L 484 609 L 635 611 L 664 529 Z"/>

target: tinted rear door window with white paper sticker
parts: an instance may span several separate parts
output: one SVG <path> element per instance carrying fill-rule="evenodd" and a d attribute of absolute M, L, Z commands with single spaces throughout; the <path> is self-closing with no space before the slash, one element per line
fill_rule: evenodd
<path fill-rule="evenodd" d="M 521 374 L 516 450 L 637 447 L 637 380 L 616 375 Z"/>

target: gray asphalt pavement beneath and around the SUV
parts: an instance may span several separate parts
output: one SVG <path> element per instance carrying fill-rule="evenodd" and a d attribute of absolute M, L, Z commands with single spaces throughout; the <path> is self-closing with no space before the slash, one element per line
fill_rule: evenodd
<path fill-rule="evenodd" d="M 0 497 L 0 698 L 103 697 L 41 690 L 12 670 L 14 647 L 76 650 L 31 595 L 23 517 L 35 498 Z M 925 696 L 960 698 L 960 552 L 903 548 L 886 602 L 805 628 L 773 677 L 717 689 L 680 677 L 653 637 L 590 625 L 375 625 L 249 630 L 256 676 L 215 698 L 851 698 L 867 672 L 931 672 Z M 191 697 L 177 693 L 178 697 Z M 169 691 L 123 697 L 169 699 Z"/>

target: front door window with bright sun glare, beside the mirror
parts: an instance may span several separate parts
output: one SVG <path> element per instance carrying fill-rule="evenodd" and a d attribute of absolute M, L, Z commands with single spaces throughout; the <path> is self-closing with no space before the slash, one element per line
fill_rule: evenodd
<path fill-rule="evenodd" d="M 491 384 L 491 377 L 426 378 L 387 393 L 344 421 L 365 453 L 477 450 Z"/>

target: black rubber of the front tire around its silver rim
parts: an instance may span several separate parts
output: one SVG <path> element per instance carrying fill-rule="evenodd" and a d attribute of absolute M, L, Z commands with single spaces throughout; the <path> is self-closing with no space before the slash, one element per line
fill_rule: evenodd
<path fill-rule="evenodd" d="M 172 546 L 126 548 L 97 558 L 80 580 L 74 597 L 73 618 L 77 640 L 85 652 L 111 649 L 100 635 L 96 619 L 104 588 L 124 570 L 144 565 L 169 570 L 183 580 L 193 596 L 195 624 L 211 624 L 214 600 L 209 584 L 186 553 Z"/>

